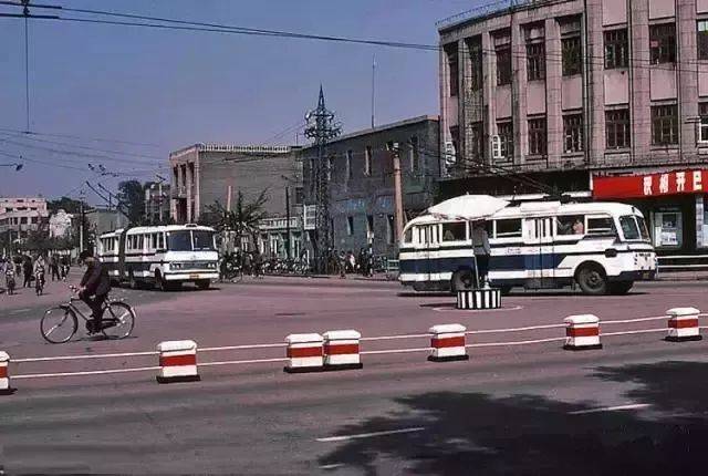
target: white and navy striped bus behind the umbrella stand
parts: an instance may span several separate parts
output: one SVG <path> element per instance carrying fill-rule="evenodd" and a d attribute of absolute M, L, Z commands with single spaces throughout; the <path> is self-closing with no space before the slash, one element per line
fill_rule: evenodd
<path fill-rule="evenodd" d="M 524 203 L 494 214 L 487 231 L 489 281 L 504 293 L 576 283 L 587 294 L 622 294 L 656 276 L 646 223 L 629 205 Z M 467 289 L 472 256 L 469 223 L 424 215 L 404 229 L 398 279 L 417 291 Z"/>

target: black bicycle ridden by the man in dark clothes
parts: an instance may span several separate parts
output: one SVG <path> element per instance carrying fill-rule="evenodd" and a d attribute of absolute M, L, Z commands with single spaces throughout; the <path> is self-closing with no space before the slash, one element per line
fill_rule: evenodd
<path fill-rule="evenodd" d="M 72 291 L 76 291 L 76 288 L 71 287 Z M 40 321 L 40 332 L 44 340 L 52 344 L 61 344 L 69 342 L 79 330 L 80 315 L 86 325 L 91 321 L 91 317 L 86 317 L 75 302 L 81 301 L 77 297 L 71 296 L 69 302 L 50 308 L 44 312 L 42 320 Z M 125 339 L 133 332 L 135 327 L 135 310 L 131 304 L 121 300 L 113 300 L 107 297 L 103 303 L 103 329 L 101 332 L 107 339 Z M 106 313 L 108 317 L 106 318 Z M 66 334 L 62 333 L 65 330 Z"/>

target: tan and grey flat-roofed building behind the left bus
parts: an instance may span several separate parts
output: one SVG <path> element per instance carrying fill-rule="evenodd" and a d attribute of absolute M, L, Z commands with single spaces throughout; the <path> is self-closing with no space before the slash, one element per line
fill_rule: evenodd
<path fill-rule="evenodd" d="M 246 201 L 267 190 L 268 215 L 285 214 L 285 187 L 298 188 L 298 147 L 195 144 L 169 154 L 173 169 L 170 216 L 194 223 L 209 205 L 235 206 L 240 192 Z"/>

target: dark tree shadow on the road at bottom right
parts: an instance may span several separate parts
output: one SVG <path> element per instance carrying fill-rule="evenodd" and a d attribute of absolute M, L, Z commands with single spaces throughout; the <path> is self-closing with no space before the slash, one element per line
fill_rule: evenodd
<path fill-rule="evenodd" d="M 403 474 L 706 474 L 708 364 L 631 365 L 600 369 L 594 376 L 638 385 L 627 400 L 650 404 L 653 412 L 572 415 L 594 405 L 524 394 L 425 393 L 398 399 L 404 411 L 337 433 L 424 431 L 351 439 L 320 464 L 344 464 L 368 475 L 391 459 L 403 465 Z"/>

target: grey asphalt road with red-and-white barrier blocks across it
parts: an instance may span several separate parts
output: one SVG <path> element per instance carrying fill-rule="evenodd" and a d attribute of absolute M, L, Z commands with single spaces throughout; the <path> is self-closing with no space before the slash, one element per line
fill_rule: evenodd
<path fill-rule="evenodd" d="M 657 282 L 626 297 L 516 293 L 502 310 L 458 311 L 445 294 L 397 283 L 266 278 L 209 291 L 118 290 L 138 312 L 134 338 L 43 343 L 41 310 L 65 297 L 0 296 L 0 350 L 12 359 L 283 342 L 293 332 L 356 329 L 420 334 L 435 323 L 469 330 L 708 310 L 705 284 Z M 603 324 L 603 332 L 665 327 Z M 509 342 L 562 329 L 468 337 Z M 159 385 L 155 372 L 15 380 L 0 396 L 1 461 L 15 473 L 150 474 L 705 474 L 706 342 L 664 333 L 603 338 L 603 350 L 559 342 L 470 349 L 467 362 L 427 352 L 363 355 L 358 371 L 285 374 L 282 362 L 200 368 L 201 382 Z M 427 338 L 364 342 L 410 349 Z M 208 352 L 200 363 L 281 358 L 284 350 Z M 133 356 L 12 364 L 15 375 L 155 365 Z"/>

